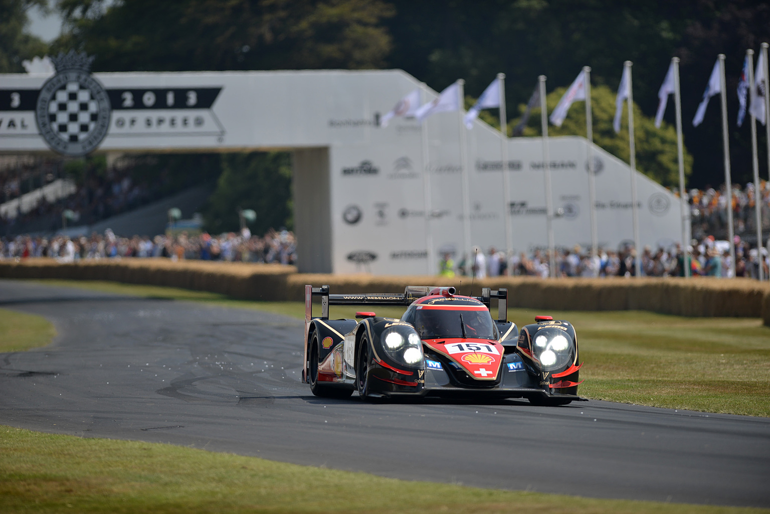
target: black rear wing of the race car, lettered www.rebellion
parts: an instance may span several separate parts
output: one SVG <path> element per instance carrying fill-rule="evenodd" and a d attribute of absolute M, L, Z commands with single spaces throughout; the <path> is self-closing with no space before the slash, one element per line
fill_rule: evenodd
<path fill-rule="evenodd" d="M 321 316 L 323 320 L 329 319 L 330 305 L 395 305 L 409 307 L 413 301 L 428 296 L 436 287 L 407 286 L 403 294 L 367 293 L 367 294 L 330 294 L 329 286 L 313 287 L 305 286 L 305 322 L 313 319 L 313 297 L 321 297 Z M 476 300 L 490 308 L 492 299 L 497 300 L 497 323 L 507 323 L 508 320 L 508 290 L 500 288 L 493 291 L 490 287 L 481 288 L 481 296 L 474 296 Z"/>

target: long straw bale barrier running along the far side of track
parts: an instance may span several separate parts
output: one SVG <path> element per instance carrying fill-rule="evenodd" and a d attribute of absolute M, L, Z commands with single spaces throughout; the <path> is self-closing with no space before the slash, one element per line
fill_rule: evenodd
<path fill-rule="evenodd" d="M 305 284 L 329 284 L 333 293 L 399 293 L 407 285 L 451 285 L 470 294 L 470 277 L 299 274 L 280 264 L 205 260 L 52 259 L 0 261 L 2 278 L 59 278 L 181 287 L 226 294 L 243 300 L 302 301 Z M 762 317 L 770 326 L 770 284 L 745 278 L 570 278 L 495 277 L 474 281 L 481 287 L 507 287 L 511 307 L 561 311 L 653 311 L 691 317 Z"/>

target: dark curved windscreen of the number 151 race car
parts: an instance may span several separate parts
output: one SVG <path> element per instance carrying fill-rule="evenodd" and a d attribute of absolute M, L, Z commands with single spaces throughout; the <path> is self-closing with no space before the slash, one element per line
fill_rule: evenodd
<path fill-rule="evenodd" d="M 462 338 L 497 339 L 489 311 L 459 311 L 449 309 L 420 309 L 416 311 L 414 328 L 422 339 Z M 462 316 L 462 321 L 460 321 Z"/>

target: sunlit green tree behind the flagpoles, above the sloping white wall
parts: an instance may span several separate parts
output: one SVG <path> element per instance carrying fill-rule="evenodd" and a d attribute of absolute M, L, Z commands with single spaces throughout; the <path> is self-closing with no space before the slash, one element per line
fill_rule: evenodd
<path fill-rule="evenodd" d="M 553 112 L 566 90 L 567 88 L 560 87 L 548 94 L 546 102 L 549 113 Z M 616 93 L 607 86 L 591 88 L 594 143 L 628 163 L 631 156 L 628 148 L 628 106 L 624 104 L 621 132 L 616 134 L 612 126 L 615 116 L 615 95 Z M 524 109 L 526 106 L 521 104 L 519 106 L 520 112 L 524 113 Z M 518 119 L 514 119 L 509 123 L 509 133 L 518 121 Z M 524 136 L 540 136 L 540 134 L 540 108 L 532 109 L 530 121 L 524 129 Z M 584 102 L 575 102 L 572 105 L 567 119 L 564 119 L 564 124 L 561 127 L 549 124 L 548 135 L 585 137 Z M 664 186 L 678 188 L 679 165 L 676 130 L 666 122 L 660 129 L 656 129 L 654 119 L 644 116 L 636 102 L 634 102 L 634 143 L 637 169 Z M 690 175 L 691 170 L 692 156 L 685 149 L 685 177 Z"/>

